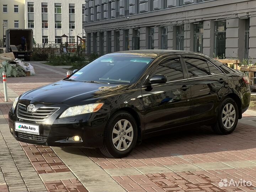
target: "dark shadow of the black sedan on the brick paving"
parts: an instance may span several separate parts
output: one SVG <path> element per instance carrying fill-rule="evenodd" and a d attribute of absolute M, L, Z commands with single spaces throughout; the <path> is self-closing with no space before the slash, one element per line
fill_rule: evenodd
<path fill-rule="evenodd" d="M 249 119 L 256 121 L 256 117 L 251 116 Z M 142 144 L 136 145 L 132 153 L 123 159 L 182 157 L 182 155 L 252 149 L 256 148 L 255 127 L 239 122 L 235 131 L 229 135 L 215 134 L 209 126 L 180 129 L 175 133 L 144 139 Z M 63 150 L 72 153 L 70 148 Z M 80 150 L 90 158 L 104 158 L 97 149 L 80 148 Z"/>

